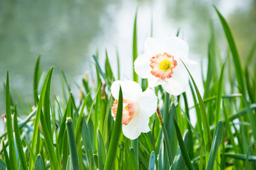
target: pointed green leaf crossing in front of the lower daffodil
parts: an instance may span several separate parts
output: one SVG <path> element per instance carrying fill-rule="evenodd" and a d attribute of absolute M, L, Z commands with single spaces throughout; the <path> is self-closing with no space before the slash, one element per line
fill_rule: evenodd
<path fill-rule="evenodd" d="M 123 95 L 122 95 L 122 89 L 120 86 L 119 89 L 119 97 L 118 97 L 118 106 L 117 106 L 117 112 L 116 112 L 116 120 L 113 128 L 113 133 L 111 136 L 111 141 L 109 145 L 109 150 L 108 150 L 108 156 L 106 159 L 106 164 L 104 166 L 104 169 L 109 170 L 112 169 L 113 164 L 115 162 L 115 157 L 116 157 L 116 150 L 118 146 L 118 141 L 122 129 L 122 114 L 123 114 Z"/>

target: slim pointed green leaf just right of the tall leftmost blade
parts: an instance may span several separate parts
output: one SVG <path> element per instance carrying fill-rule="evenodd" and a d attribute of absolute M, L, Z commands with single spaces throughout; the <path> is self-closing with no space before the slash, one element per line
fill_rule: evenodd
<path fill-rule="evenodd" d="M 20 139 L 20 130 L 19 130 L 18 120 L 17 120 L 17 104 L 15 105 L 15 111 L 13 114 L 13 128 L 15 132 L 15 141 L 17 144 L 17 150 L 19 153 L 20 165 L 22 169 L 28 169 L 28 164 L 24 155 L 23 146 Z"/>

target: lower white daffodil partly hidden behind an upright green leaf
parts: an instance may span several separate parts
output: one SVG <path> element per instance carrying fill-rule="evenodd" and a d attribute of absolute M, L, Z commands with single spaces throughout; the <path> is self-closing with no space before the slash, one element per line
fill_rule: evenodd
<path fill-rule="evenodd" d="M 142 91 L 140 85 L 134 81 L 115 81 L 111 86 L 111 93 L 115 98 L 112 116 L 116 117 L 119 88 L 123 93 L 122 130 L 125 137 L 136 139 L 140 133 L 150 131 L 149 118 L 156 112 L 157 97 L 152 89 Z"/>

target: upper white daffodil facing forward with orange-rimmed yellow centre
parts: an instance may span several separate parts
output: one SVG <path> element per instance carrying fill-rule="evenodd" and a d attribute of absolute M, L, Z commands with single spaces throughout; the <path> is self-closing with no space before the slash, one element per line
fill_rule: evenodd
<path fill-rule="evenodd" d="M 188 86 L 188 72 L 196 62 L 188 59 L 188 44 L 177 36 L 161 42 L 155 38 L 145 41 L 145 53 L 134 61 L 135 72 L 148 79 L 150 88 L 162 85 L 170 95 L 180 95 Z"/>

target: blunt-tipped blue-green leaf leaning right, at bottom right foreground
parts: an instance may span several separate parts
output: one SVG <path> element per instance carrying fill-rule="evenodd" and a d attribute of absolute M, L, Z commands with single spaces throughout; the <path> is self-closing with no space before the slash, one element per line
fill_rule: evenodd
<path fill-rule="evenodd" d="M 219 148 L 220 143 L 221 143 L 222 132 L 223 132 L 223 123 L 220 120 L 217 123 L 216 130 L 215 130 L 215 133 L 214 133 L 214 136 L 213 136 L 210 157 L 209 157 L 208 164 L 207 164 L 207 170 L 213 169 L 214 162 L 215 162 L 215 157 L 216 157 L 216 154 L 218 152 L 218 148 Z"/>

